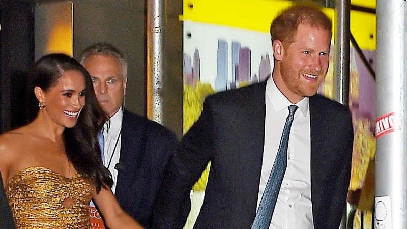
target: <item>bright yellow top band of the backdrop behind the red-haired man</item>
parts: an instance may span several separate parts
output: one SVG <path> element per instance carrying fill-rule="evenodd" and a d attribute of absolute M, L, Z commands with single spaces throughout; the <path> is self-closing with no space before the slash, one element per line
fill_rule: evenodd
<path fill-rule="evenodd" d="M 227 25 L 268 33 L 277 14 L 292 5 L 283 0 L 184 0 L 183 20 Z M 333 9 L 325 9 L 332 19 Z M 335 24 L 335 23 L 333 23 Z M 376 48 L 376 19 L 374 14 L 351 12 L 351 32 L 360 48 Z"/>

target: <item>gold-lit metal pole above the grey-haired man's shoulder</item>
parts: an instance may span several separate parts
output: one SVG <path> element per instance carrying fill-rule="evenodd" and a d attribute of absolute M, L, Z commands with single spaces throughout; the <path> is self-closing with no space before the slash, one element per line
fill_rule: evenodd
<path fill-rule="evenodd" d="M 147 117 L 162 124 L 165 0 L 147 1 Z"/>

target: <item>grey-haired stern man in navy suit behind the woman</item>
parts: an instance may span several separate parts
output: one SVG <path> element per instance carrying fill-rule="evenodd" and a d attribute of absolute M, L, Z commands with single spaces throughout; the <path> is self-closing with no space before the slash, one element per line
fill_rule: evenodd
<path fill-rule="evenodd" d="M 93 44 L 83 50 L 80 62 L 110 117 L 100 141 L 104 165 L 114 181 L 112 191 L 123 210 L 149 227 L 152 205 L 178 140 L 167 128 L 124 109 L 127 62 L 116 47 Z"/>

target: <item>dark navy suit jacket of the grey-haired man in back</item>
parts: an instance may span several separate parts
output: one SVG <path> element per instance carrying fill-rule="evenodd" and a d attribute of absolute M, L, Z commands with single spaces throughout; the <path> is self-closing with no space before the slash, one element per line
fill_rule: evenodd
<path fill-rule="evenodd" d="M 177 143 L 164 126 L 124 110 L 115 196 L 144 227 L 150 226 L 152 205 Z"/>

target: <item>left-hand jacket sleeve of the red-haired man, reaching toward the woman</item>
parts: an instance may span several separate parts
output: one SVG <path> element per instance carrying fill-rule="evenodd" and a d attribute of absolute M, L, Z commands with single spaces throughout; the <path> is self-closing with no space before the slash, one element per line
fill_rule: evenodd
<path fill-rule="evenodd" d="M 182 228 L 190 211 L 189 194 L 213 155 L 212 115 L 205 105 L 169 161 L 155 202 L 152 228 Z"/>

